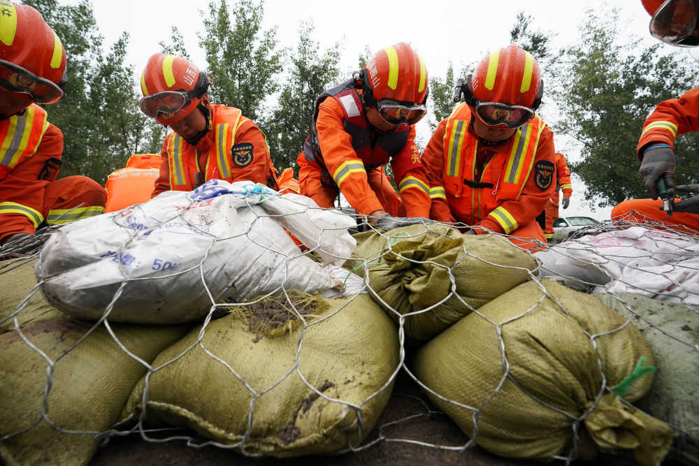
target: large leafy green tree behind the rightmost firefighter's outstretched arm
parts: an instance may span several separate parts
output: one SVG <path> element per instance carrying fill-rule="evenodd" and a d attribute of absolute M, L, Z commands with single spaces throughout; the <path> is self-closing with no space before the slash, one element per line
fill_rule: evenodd
<path fill-rule="evenodd" d="M 588 11 L 580 42 L 565 50 L 556 131 L 580 141 L 582 159 L 569 163 L 586 186 L 590 205 L 646 198 L 636 145 L 643 123 L 661 101 L 695 87 L 696 64 L 660 43 L 642 48 L 637 38 L 619 44 L 617 10 Z M 677 139 L 678 182 L 696 182 L 698 133 Z"/>

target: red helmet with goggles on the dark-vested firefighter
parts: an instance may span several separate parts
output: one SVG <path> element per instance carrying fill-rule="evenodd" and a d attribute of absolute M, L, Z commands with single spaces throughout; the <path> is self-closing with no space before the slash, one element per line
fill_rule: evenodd
<path fill-rule="evenodd" d="M 386 122 L 416 124 L 425 116 L 427 69 L 407 43 L 375 54 L 356 78 L 366 105 L 376 108 Z"/>

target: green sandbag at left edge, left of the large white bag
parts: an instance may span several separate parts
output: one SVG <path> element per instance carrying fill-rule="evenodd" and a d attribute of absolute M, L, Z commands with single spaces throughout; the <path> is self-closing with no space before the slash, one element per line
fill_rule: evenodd
<path fill-rule="evenodd" d="M 0 262 L 0 333 L 15 329 L 15 316 L 20 328 L 69 317 L 47 303 L 41 291 L 31 293 L 36 286 L 34 263 L 36 258 Z M 27 297 L 29 300 L 24 303 Z M 22 308 L 16 312 L 20 305 Z"/>

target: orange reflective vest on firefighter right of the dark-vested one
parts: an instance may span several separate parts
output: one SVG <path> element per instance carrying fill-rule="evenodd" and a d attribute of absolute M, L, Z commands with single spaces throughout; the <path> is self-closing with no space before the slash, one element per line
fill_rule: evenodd
<path fill-rule="evenodd" d="M 532 173 L 539 138 L 546 124 L 538 115 L 521 128 L 512 138 L 509 154 L 496 154 L 475 179 L 478 141 L 468 133 L 471 112 L 466 103 L 457 106 L 447 120 L 444 136 L 445 163 L 442 172 L 447 202 L 457 217 L 473 223 L 493 213 L 505 231 L 514 223 L 505 219 L 509 212 L 498 207 L 503 201 L 516 201 Z M 434 196 L 434 194 L 433 194 Z M 441 197 L 441 196 L 440 196 Z M 458 201 L 455 198 L 461 198 Z M 503 217 L 500 221 L 500 217 Z"/>

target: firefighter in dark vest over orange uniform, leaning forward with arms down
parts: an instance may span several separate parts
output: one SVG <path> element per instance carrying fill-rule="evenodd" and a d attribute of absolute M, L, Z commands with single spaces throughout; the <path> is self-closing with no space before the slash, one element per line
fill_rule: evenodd
<path fill-rule="evenodd" d="M 377 228 L 428 217 L 428 182 L 415 145 L 426 114 L 427 71 L 407 43 L 384 48 L 354 78 L 317 99 L 311 131 L 298 155 L 301 194 L 333 207 L 340 193 Z M 400 194 L 383 166 L 391 162 Z"/>

